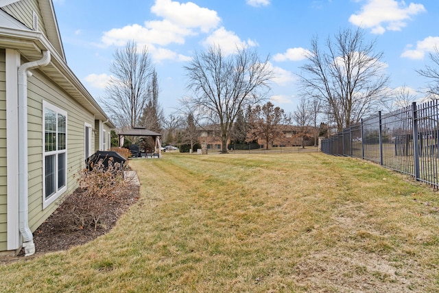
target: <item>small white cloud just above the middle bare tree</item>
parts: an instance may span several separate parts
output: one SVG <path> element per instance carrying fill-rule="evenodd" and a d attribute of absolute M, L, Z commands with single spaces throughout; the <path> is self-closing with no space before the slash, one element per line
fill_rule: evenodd
<path fill-rule="evenodd" d="M 224 27 L 220 27 L 215 30 L 210 36 L 208 36 L 203 42 L 204 47 L 211 47 L 218 45 L 221 47 L 224 54 L 233 54 L 237 48 L 241 47 L 255 47 L 257 43 L 254 40 L 241 40 L 235 32 L 226 30 Z"/>

